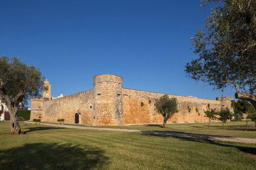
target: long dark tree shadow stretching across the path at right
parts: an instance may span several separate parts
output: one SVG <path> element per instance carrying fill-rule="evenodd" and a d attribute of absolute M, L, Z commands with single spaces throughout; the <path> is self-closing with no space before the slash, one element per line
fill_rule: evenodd
<path fill-rule="evenodd" d="M 201 135 L 201 134 L 193 134 L 193 133 L 184 133 L 184 132 L 165 132 L 161 133 L 162 131 L 142 131 L 141 133 L 148 136 L 160 136 L 160 137 L 173 137 L 183 141 L 192 141 L 192 142 L 199 142 L 199 143 L 206 143 L 211 145 L 217 146 L 227 146 L 227 147 L 235 147 L 242 151 L 243 153 L 247 154 L 251 157 L 256 157 L 256 147 L 247 147 L 247 146 L 239 146 L 238 144 L 223 144 L 214 140 L 215 137 L 217 138 L 233 138 L 230 136 L 217 136 L 217 135 Z"/>

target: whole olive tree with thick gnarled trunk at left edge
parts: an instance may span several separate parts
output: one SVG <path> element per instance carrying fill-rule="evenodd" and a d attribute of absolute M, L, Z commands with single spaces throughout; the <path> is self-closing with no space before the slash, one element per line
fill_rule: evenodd
<path fill-rule="evenodd" d="M 27 66 L 18 58 L 0 57 L 0 97 L 10 113 L 10 133 L 20 134 L 17 119 L 19 104 L 30 97 L 39 97 L 43 77 L 34 66 Z"/>

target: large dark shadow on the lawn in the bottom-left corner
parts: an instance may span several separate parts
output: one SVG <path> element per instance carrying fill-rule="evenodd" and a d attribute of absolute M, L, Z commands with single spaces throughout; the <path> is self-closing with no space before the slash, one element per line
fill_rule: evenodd
<path fill-rule="evenodd" d="M 0 169 L 103 169 L 108 157 L 99 148 L 35 143 L 0 150 Z"/>

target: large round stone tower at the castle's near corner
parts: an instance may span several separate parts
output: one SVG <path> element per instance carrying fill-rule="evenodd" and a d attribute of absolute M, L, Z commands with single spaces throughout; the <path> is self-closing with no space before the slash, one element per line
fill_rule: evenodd
<path fill-rule="evenodd" d="M 123 125 L 123 78 L 102 74 L 94 77 L 95 125 Z"/>

